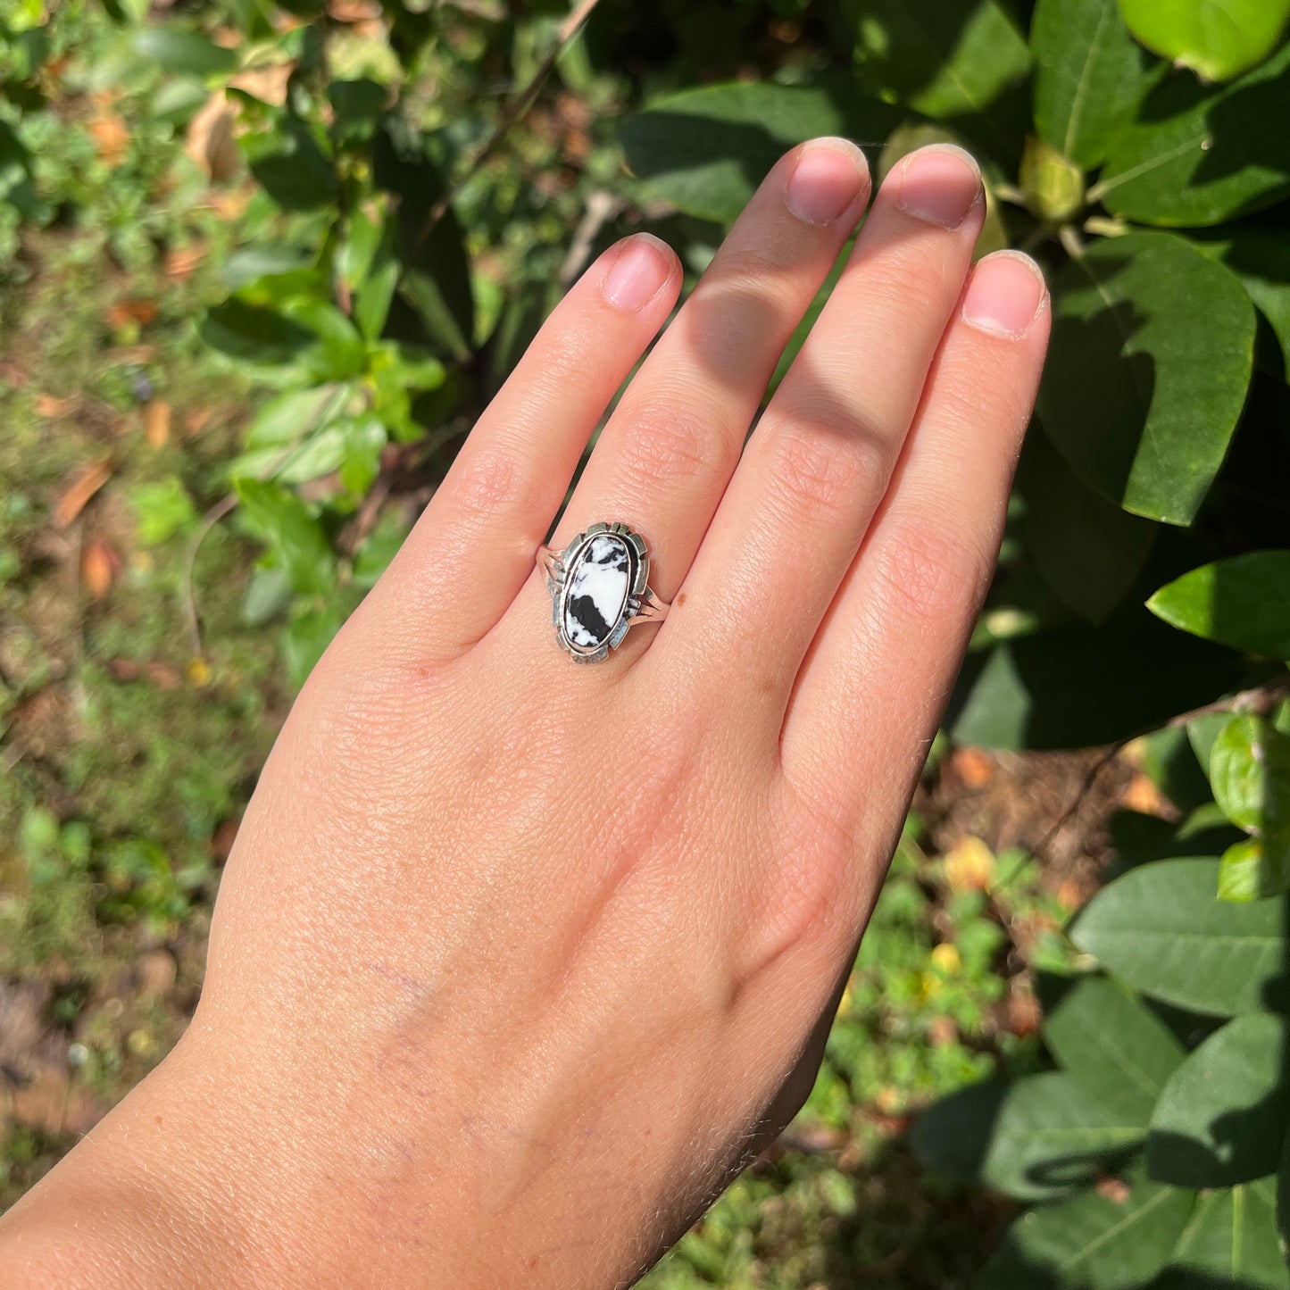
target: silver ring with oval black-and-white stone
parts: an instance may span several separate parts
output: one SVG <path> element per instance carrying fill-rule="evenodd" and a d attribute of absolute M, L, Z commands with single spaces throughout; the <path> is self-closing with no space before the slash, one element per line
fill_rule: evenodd
<path fill-rule="evenodd" d="M 575 663 L 599 663 L 627 628 L 660 623 L 671 608 L 649 588 L 645 539 L 626 524 L 593 524 L 564 548 L 538 547 L 547 575 L 551 620 Z"/>

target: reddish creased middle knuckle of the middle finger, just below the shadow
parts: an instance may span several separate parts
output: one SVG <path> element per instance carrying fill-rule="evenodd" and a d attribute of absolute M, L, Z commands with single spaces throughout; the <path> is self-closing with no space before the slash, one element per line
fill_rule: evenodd
<path fill-rule="evenodd" d="M 858 513 L 886 479 L 886 457 L 876 436 L 836 409 L 795 415 L 770 444 L 771 477 L 793 515 Z"/>

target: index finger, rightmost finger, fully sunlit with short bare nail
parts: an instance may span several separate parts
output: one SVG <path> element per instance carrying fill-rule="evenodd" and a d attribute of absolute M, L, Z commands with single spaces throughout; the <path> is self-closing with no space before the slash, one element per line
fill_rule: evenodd
<path fill-rule="evenodd" d="M 922 765 L 993 573 L 1049 321 L 1032 261 L 977 264 L 897 479 L 799 675 L 783 770 L 845 827 L 873 805 L 862 786 L 907 795 Z M 881 770 L 858 762 L 863 748 Z"/>

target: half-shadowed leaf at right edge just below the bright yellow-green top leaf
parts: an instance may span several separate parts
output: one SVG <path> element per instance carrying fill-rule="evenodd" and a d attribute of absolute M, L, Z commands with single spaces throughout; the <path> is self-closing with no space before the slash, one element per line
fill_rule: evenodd
<path fill-rule="evenodd" d="M 1090 200 L 1125 219 L 1204 227 L 1290 194 L 1290 45 L 1219 90 L 1173 76 L 1111 148 Z"/>

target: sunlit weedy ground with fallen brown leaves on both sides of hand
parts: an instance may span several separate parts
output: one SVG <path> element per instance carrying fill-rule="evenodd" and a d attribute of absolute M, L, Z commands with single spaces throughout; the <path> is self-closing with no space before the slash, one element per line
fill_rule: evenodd
<path fill-rule="evenodd" d="M 258 395 L 194 319 L 264 212 L 217 200 L 173 130 L 76 68 L 41 159 L 66 206 L 0 293 L 0 1205 L 182 1032 L 289 703 L 243 611 L 254 548 L 227 524 L 196 543 Z M 952 1290 L 1006 1224 L 903 1133 L 1033 1059 L 1027 973 L 1063 960 L 1067 907 L 1022 854 L 928 845 L 912 822 L 806 1109 L 651 1290 Z"/>

